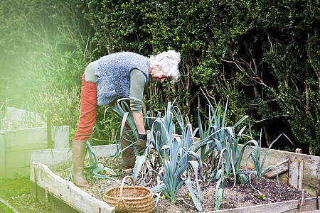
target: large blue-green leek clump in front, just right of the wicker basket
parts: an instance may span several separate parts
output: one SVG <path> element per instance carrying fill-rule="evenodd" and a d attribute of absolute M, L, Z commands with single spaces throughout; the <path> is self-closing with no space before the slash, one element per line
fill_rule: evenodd
<path fill-rule="evenodd" d="M 171 200 L 171 204 L 176 202 L 178 190 L 185 184 L 188 187 L 191 198 L 198 211 L 202 211 L 200 186 L 198 184 L 198 162 L 194 158 L 200 159 L 196 153 L 191 151 L 193 138 L 196 131 L 192 131 L 191 124 L 184 124 L 178 118 L 179 126 L 182 128 L 182 138 L 176 137 L 174 115 L 177 115 L 169 102 L 166 114 L 161 119 L 156 119 L 152 125 L 151 134 L 155 135 L 150 141 L 154 145 L 155 151 L 161 160 L 161 168 L 154 171 L 157 175 L 158 185 L 151 190 L 162 191 Z M 191 170 L 192 168 L 192 170 Z M 187 172 L 187 178 L 183 178 L 183 173 Z M 190 173 L 195 174 L 196 186 L 193 186 Z M 199 200 L 193 192 L 196 188 Z"/>

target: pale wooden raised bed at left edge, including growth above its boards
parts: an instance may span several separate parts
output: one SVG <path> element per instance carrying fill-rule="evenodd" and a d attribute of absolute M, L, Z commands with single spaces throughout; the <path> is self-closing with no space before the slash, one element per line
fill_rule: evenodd
<path fill-rule="evenodd" d="M 69 126 L 47 128 L 33 112 L 6 107 L 0 121 L 0 179 L 29 175 L 32 150 L 69 147 Z"/>

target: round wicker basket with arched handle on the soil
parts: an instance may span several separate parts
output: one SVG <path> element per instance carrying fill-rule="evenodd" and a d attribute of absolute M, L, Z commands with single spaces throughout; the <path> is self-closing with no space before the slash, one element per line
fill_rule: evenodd
<path fill-rule="evenodd" d="M 124 180 L 130 178 L 133 186 L 124 186 Z M 146 187 L 139 187 L 134 184 L 130 176 L 122 179 L 120 187 L 113 187 L 105 192 L 103 201 L 116 212 L 151 212 L 153 196 L 151 190 Z"/>

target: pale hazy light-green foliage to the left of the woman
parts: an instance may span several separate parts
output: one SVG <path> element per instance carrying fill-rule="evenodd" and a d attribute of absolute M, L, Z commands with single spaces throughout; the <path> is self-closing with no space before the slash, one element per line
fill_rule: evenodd
<path fill-rule="evenodd" d="M 72 130 L 80 115 L 80 87 L 93 33 L 77 1 L 0 3 L 0 107 L 52 114 Z"/>

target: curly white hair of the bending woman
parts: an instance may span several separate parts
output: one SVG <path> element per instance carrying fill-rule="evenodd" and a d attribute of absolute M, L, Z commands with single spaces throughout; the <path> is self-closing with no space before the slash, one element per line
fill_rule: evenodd
<path fill-rule="evenodd" d="M 150 56 L 150 67 L 156 69 L 159 67 L 160 70 L 168 73 L 171 77 L 171 82 L 175 83 L 180 77 L 178 70 L 178 63 L 180 62 L 180 53 L 175 50 L 169 50 L 168 52 L 162 52 L 158 55 Z"/>

